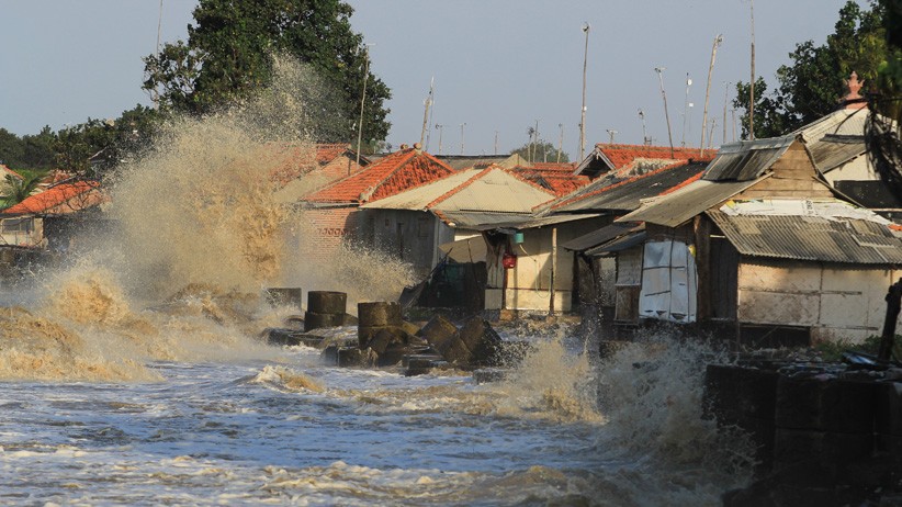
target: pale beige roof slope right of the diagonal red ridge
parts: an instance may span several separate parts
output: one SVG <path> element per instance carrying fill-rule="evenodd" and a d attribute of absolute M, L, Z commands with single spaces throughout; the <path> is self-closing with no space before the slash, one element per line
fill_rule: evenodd
<path fill-rule="evenodd" d="M 554 199 L 554 193 L 499 168 L 480 174 L 433 201 L 429 209 L 442 212 L 527 213 Z"/>

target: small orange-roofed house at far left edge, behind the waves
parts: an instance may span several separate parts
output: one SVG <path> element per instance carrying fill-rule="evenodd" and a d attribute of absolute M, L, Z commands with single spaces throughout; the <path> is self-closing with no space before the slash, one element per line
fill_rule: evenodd
<path fill-rule="evenodd" d="M 68 249 L 78 219 L 104 201 L 95 181 L 57 183 L 0 212 L 0 246 Z"/>

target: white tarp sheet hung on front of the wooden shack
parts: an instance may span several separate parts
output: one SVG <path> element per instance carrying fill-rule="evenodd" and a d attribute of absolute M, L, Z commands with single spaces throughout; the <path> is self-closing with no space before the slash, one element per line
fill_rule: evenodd
<path fill-rule="evenodd" d="M 639 315 L 676 323 L 696 322 L 696 259 L 681 241 L 645 243 Z"/>

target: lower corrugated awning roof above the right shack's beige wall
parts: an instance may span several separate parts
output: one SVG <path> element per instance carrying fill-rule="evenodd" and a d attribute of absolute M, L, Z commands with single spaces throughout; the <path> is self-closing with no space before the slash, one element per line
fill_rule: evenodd
<path fill-rule="evenodd" d="M 718 210 L 707 214 L 745 256 L 902 264 L 902 238 L 876 222 L 802 215 L 730 216 Z"/>

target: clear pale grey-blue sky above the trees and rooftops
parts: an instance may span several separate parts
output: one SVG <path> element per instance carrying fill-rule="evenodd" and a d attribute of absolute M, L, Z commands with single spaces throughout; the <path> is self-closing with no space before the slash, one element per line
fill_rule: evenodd
<path fill-rule="evenodd" d="M 753 9 L 756 74 L 774 87 L 777 69 L 790 63 L 798 43 L 821 45 L 833 33 L 845 0 L 348 3 L 356 11 L 353 30 L 370 44 L 371 71 L 392 90 L 386 140 L 395 148 L 420 140 L 431 82 L 428 151 L 509 153 L 527 144 L 528 128 L 538 125 L 542 139 L 577 159 L 584 61 L 586 153 L 611 139 L 642 144 L 643 135 L 659 146 L 669 138 L 674 146 L 698 146 L 712 47 L 722 35 L 708 93 L 708 116 L 715 120 L 706 134 L 713 133 L 717 146 L 723 140 L 724 94 L 729 90 L 732 100 L 733 83 L 751 77 Z M 140 89 L 142 57 L 155 52 L 158 27 L 164 44 L 187 40 L 195 5 L 0 0 L 0 127 L 36 134 L 45 125 L 57 131 L 150 105 Z M 730 142 L 734 122 L 726 114 Z"/>

